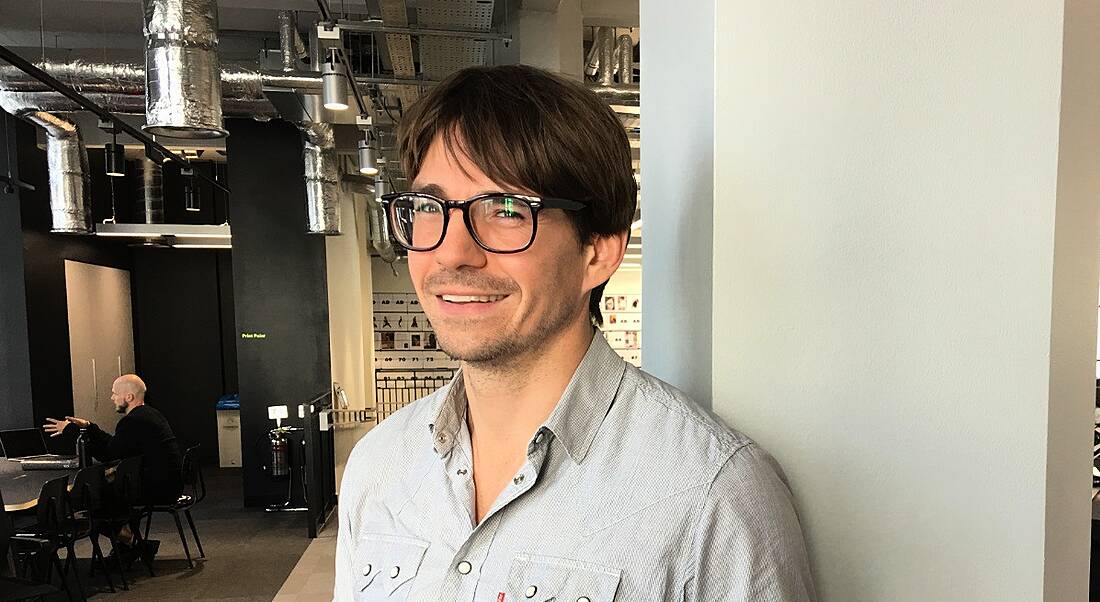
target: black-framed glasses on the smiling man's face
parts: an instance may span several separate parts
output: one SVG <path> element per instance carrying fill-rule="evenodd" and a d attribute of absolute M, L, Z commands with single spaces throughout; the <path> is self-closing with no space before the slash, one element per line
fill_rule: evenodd
<path fill-rule="evenodd" d="M 451 211 L 462 210 L 471 238 L 491 253 L 519 253 L 530 248 L 539 230 L 539 211 L 580 211 L 578 200 L 532 197 L 509 193 L 477 195 L 466 200 L 447 200 L 425 193 L 382 196 L 389 230 L 409 251 L 432 251 L 443 243 Z"/>

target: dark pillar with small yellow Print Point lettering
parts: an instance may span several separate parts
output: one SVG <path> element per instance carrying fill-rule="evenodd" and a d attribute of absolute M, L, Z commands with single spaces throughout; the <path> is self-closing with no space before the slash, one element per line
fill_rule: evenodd
<path fill-rule="evenodd" d="M 244 503 L 282 501 L 286 484 L 263 472 L 268 405 L 329 390 L 324 239 L 306 234 L 301 139 L 284 121 L 228 120 L 233 298 Z"/>

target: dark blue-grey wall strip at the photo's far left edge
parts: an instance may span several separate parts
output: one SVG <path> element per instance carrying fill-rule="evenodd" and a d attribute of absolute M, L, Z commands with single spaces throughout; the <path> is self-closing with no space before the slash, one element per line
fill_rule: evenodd
<path fill-rule="evenodd" d="M 0 111 L 0 169 L 19 177 L 14 118 Z M 26 286 L 19 199 L 0 184 L 0 428 L 34 425 L 31 354 L 26 339 Z"/>

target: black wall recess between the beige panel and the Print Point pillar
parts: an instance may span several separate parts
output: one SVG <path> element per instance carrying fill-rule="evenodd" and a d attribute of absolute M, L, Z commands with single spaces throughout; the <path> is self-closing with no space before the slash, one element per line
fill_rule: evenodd
<path fill-rule="evenodd" d="M 227 393 L 219 253 L 139 249 L 132 282 L 138 372 L 148 402 L 182 445 L 201 444 L 206 463 L 218 460 L 215 403 Z"/>

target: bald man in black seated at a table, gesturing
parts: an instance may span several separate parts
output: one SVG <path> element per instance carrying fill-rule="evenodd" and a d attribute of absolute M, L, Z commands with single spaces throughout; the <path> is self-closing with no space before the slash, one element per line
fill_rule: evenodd
<path fill-rule="evenodd" d="M 151 504 L 170 504 L 183 491 L 183 455 L 179 444 L 164 414 L 145 405 L 145 383 L 136 374 L 123 374 L 111 385 L 111 402 L 122 419 L 114 435 L 84 418 L 66 416 L 64 420 L 46 418 L 43 428 L 51 437 L 73 430 L 88 429 L 88 450 L 101 462 L 143 456 L 142 495 Z M 70 430 L 72 429 L 72 430 Z"/>

